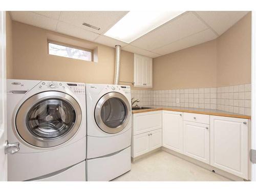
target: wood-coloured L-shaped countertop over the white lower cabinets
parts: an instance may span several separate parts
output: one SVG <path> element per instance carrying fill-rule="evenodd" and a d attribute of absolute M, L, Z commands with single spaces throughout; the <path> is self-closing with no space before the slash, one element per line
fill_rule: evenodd
<path fill-rule="evenodd" d="M 229 113 L 229 112 L 220 111 L 220 110 L 183 108 L 183 107 L 179 107 L 179 106 L 159 106 L 159 105 L 150 105 L 150 106 L 145 106 L 145 107 L 149 107 L 152 109 L 133 110 L 132 113 L 136 114 L 136 113 L 165 110 L 165 111 L 177 111 L 177 112 L 186 112 L 186 113 L 197 113 L 197 114 L 216 115 L 216 116 L 223 116 L 223 117 L 251 119 L 251 116 L 248 116 L 248 115 Z"/>

